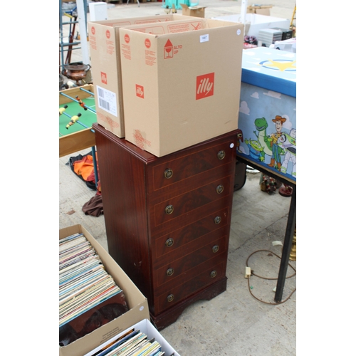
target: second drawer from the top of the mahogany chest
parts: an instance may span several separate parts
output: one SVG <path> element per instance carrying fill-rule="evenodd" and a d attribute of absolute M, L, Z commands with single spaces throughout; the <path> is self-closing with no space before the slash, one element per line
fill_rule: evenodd
<path fill-rule="evenodd" d="M 161 201 L 153 206 L 153 226 L 165 224 L 194 209 L 229 196 L 231 193 L 231 176 L 217 179 L 185 194 Z M 188 217 L 189 219 L 189 217 Z M 193 222 L 193 221 L 187 221 Z"/>

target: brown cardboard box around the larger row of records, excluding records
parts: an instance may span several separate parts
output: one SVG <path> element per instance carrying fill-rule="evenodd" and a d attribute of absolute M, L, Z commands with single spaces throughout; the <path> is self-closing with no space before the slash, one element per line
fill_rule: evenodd
<path fill-rule="evenodd" d="M 59 231 L 59 239 L 66 236 L 73 235 L 81 232 L 88 239 L 90 244 L 95 248 L 95 251 L 100 256 L 105 270 L 114 278 L 117 286 L 120 286 L 125 293 L 125 299 L 129 310 L 122 314 L 115 320 L 110 321 L 100 328 L 94 330 L 92 333 L 81 337 L 69 345 L 59 347 L 60 356 L 83 356 L 85 353 L 90 352 L 93 348 L 102 345 L 103 342 L 109 340 L 112 336 L 121 333 L 132 325 L 141 320 L 150 318 L 148 309 L 147 298 L 140 292 L 134 283 L 128 278 L 127 274 L 122 271 L 120 266 L 114 259 L 105 251 L 105 249 L 96 241 L 93 236 L 81 225 L 70 226 Z"/>

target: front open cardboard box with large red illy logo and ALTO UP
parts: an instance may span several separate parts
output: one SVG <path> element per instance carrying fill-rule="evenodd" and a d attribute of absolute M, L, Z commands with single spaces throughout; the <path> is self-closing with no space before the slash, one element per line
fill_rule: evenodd
<path fill-rule="evenodd" d="M 157 157 L 237 129 L 244 25 L 120 28 L 125 139 Z"/>

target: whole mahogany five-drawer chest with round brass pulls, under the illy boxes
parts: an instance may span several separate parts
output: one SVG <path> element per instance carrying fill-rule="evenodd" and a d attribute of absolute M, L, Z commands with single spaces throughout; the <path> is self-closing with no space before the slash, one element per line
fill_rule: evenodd
<path fill-rule="evenodd" d="M 226 290 L 237 132 L 155 157 L 93 128 L 109 253 L 162 330 Z"/>

